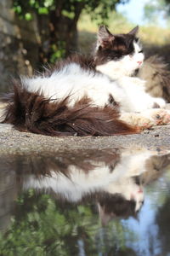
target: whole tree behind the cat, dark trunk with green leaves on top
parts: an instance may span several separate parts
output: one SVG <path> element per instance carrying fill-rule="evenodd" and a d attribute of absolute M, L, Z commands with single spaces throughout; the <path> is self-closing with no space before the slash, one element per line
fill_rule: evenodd
<path fill-rule="evenodd" d="M 48 61 L 54 63 L 57 59 L 68 55 L 70 50 L 69 44 L 72 43 L 71 46 L 73 49 L 73 45 L 75 45 L 76 49 L 77 44 L 75 41 L 77 39 L 74 35 L 76 34 L 77 21 L 82 10 L 90 14 L 93 20 L 100 17 L 104 23 L 105 20 L 108 19 L 109 13 L 115 9 L 116 3 L 125 3 L 127 1 L 128 0 L 13 0 L 13 6 L 14 12 L 20 19 L 27 21 L 32 20 L 35 15 L 37 15 L 37 20 L 41 15 L 48 15 L 48 22 L 50 24 L 48 29 L 51 27 L 51 33 L 49 33 L 51 38 L 49 38 L 49 41 L 53 42 L 50 43 Z M 65 22 L 65 24 L 63 22 Z M 56 28 L 56 24 L 58 24 L 58 28 L 61 26 L 66 27 L 65 31 L 67 35 L 64 36 L 62 32 Z M 54 27 L 53 29 L 55 31 L 53 31 L 51 25 Z M 46 59 L 42 58 L 42 62 L 44 60 Z"/>

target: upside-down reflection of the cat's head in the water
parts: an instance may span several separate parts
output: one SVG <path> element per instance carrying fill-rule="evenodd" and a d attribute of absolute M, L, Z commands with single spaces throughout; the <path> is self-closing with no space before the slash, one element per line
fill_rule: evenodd
<path fill-rule="evenodd" d="M 140 177 L 122 180 L 123 186 L 110 183 L 107 186 L 107 196 L 99 199 L 99 217 L 102 224 L 107 224 L 112 218 L 136 217 L 144 203 L 144 190 Z"/>

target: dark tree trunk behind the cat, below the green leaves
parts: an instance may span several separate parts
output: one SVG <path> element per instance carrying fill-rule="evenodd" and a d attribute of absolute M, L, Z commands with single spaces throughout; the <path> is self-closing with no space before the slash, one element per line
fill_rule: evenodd
<path fill-rule="evenodd" d="M 77 51 L 77 21 L 84 3 L 74 3 L 75 12 L 72 19 L 62 14 L 62 5 L 63 1 L 58 1 L 57 9 L 49 13 L 46 24 L 44 24 L 44 16 L 37 17 L 42 38 L 42 44 L 40 45 L 40 62 L 42 63 L 50 60 L 51 55 L 54 54 L 54 45 L 58 50 L 64 49 L 64 56 Z M 46 32 L 44 32 L 44 27 L 46 27 Z M 63 57 L 63 55 L 61 56 Z"/>

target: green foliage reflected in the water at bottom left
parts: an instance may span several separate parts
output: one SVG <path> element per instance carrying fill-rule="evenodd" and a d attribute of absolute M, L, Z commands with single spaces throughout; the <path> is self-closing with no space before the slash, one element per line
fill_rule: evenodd
<path fill-rule="evenodd" d="M 81 237 L 93 251 L 95 225 L 91 226 L 89 207 L 61 210 L 48 195 L 36 196 L 31 191 L 20 196 L 17 212 L 0 239 L 3 255 L 76 255 Z"/>

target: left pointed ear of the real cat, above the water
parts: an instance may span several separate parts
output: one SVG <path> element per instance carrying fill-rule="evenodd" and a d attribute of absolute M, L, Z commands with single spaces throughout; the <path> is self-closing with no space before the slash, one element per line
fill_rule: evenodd
<path fill-rule="evenodd" d="M 111 45 L 111 42 L 114 39 L 115 37 L 111 34 L 106 26 L 99 26 L 98 46 L 101 46 L 102 48 L 107 48 L 109 47 L 109 45 Z"/>

